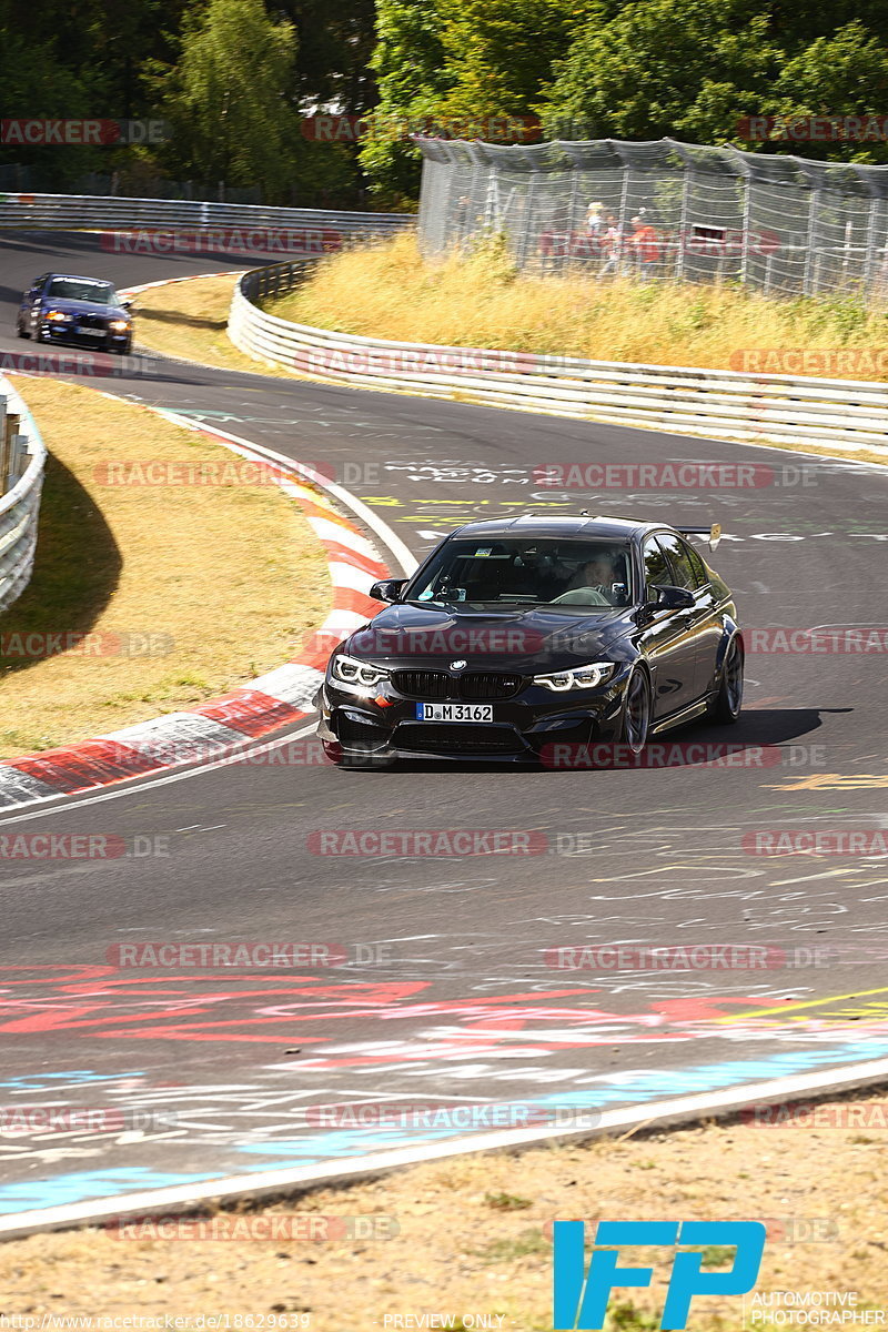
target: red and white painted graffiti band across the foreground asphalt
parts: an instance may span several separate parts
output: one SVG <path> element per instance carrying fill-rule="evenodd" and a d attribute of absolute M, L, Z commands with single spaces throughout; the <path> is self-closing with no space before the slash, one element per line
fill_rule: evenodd
<path fill-rule="evenodd" d="M 430 980 L 333 982 L 314 974 L 257 976 L 256 970 L 232 975 L 228 968 L 212 974 L 180 968 L 170 976 L 113 967 L 72 971 L 57 964 L 3 968 L 0 983 L 4 980 L 0 1032 L 8 1036 L 65 1031 L 103 1040 L 302 1047 L 339 1042 L 342 1022 L 354 1023 L 359 1030 L 357 1042 L 350 1038 L 351 1051 L 329 1058 L 318 1051 L 302 1062 L 313 1071 L 446 1063 L 503 1051 L 523 1058 L 598 1046 L 687 1042 L 723 1035 L 722 1028 L 708 1026 L 712 1019 L 755 1002 L 750 996 L 694 996 L 616 1012 L 590 1004 L 592 995 L 602 994 L 591 986 L 435 1000 L 421 998 L 429 995 Z M 449 1018 L 453 1026 L 422 1039 L 413 1030 L 399 1035 L 403 1027 L 390 1026 L 411 1028 L 426 1018 Z"/>

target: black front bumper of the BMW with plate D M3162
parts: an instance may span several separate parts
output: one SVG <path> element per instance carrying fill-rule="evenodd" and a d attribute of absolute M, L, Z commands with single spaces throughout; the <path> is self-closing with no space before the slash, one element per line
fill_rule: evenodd
<path fill-rule="evenodd" d="M 626 678 L 622 671 L 607 685 L 570 695 L 530 685 L 515 698 L 493 702 L 491 722 L 421 721 L 419 699 L 389 689 L 379 705 L 328 678 L 316 698 L 318 737 L 337 754 L 363 758 L 546 762 L 556 745 L 618 739 Z"/>

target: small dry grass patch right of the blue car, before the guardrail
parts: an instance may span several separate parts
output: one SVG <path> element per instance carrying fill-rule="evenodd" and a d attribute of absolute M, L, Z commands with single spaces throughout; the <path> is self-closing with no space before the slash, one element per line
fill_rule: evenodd
<path fill-rule="evenodd" d="M 136 344 L 222 370 L 292 380 L 288 370 L 270 361 L 254 361 L 229 341 L 225 329 L 236 281 L 237 274 L 222 273 L 137 293 L 133 298 Z"/>

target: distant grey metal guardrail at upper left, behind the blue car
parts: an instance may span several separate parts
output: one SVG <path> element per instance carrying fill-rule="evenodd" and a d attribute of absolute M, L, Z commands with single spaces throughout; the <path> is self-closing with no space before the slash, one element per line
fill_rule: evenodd
<path fill-rule="evenodd" d="M 95 194 L 0 194 L 0 226 L 133 229 L 240 226 L 333 229 L 342 236 L 385 236 L 415 225 L 413 213 L 349 213 L 321 208 L 265 208 L 182 198 Z"/>

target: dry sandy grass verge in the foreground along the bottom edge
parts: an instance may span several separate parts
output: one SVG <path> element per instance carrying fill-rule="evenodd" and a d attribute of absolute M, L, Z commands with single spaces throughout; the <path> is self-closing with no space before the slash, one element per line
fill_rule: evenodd
<path fill-rule="evenodd" d="M 879 1128 L 728 1123 L 455 1159 L 252 1213 L 391 1217 L 399 1227 L 394 1239 L 122 1243 L 96 1229 L 32 1236 L 0 1247 L 0 1284 L 9 1313 L 166 1312 L 186 1323 L 210 1311 L 266 1320 L 289 1313 L 289 1327 L 298 1327 L 302 1313 L 312 1332 L 365 1332 L 385 1327 L 385 1315 L 413 1315 L 414 1321 L 387 1325 L 414 1328 L 471 1327 L 461 1319 L 502 1315 L 503 1332 L 546 1332 L 554 1219 L 766 1220 L 756 1291 L 855 1291 L 859 1311 L 881 1308 L 888 1304 L 883 1136 Z M 614 1295 L 607 1332 L 652 1332 L 668 1279 L 666 1251 L 632 1249 L 627 1261 L 650 1263 L 654 1283 L 650 1291 Z M 707 1271 L 726 1271 L 731 1261 L 731 1249 L 704 1251 Z M 453 1321 L 415 1321 L 430 1313 Z M 740 1297 L 719 1296 L 694 1300 L 688 1332 L 754 1325 L 748 1299 L 744 1317 Z"/>

